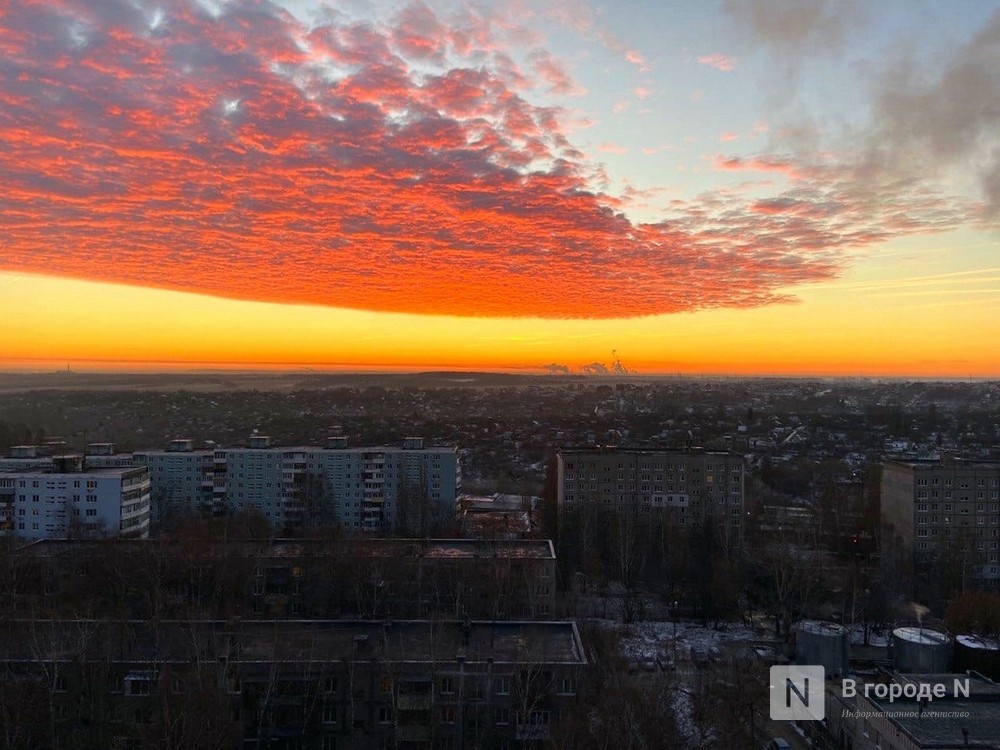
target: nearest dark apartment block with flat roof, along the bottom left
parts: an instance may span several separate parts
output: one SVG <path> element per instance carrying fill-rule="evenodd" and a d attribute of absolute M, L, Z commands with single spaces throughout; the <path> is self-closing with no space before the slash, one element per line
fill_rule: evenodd
<path fill-rule="evenodd" d="M 25 746 L 543 747 L 587 659 L 572 622 L 15 620 Z M 71 655 L 71 656 L 67 656 Z"/>

